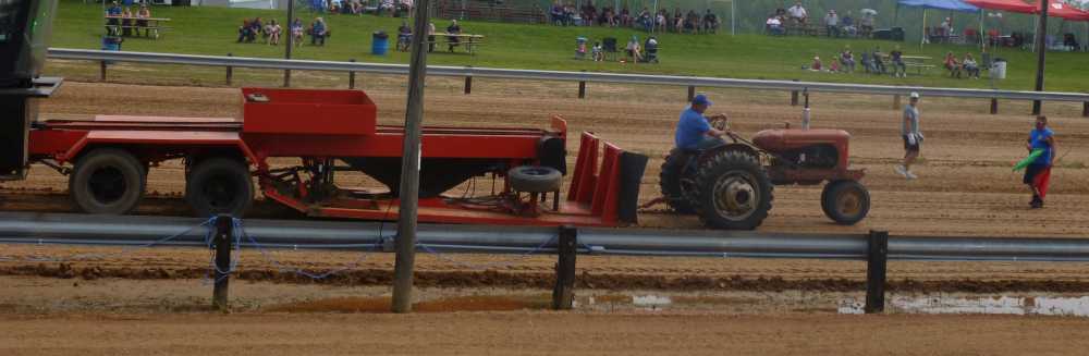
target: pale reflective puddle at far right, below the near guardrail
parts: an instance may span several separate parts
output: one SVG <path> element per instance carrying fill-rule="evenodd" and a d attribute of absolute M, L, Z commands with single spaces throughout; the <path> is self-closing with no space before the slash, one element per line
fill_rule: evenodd
<path fill-rule="evenodd" d="M 864 314 L 864 305 L 862 299 L 844 299 L 839 312 Z M 892 296 L 885 311 L 1089 317 L 1089 296 Z"/>

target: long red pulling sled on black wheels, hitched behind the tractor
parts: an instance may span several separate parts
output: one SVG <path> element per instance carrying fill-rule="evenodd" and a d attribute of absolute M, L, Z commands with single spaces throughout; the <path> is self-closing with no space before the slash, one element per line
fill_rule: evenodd
<path fill-rule="evenodd" d="M 30 162 L 70 176 L 75 204 L 91 213 L 126 213 L 143 196 L 147 171 L 185 164 L 186 201 L 198 216 L 243 216 L 256 179 L 260 193 L 311 217 L 394 220 L 403 127 L 378 125 L 359 90 L 242 89 L 242 120 L 99 115 L 32 124 Z M 579 137 L 568 192 L 517 192 L 512 169 L 566 174 L 566 122 L 547 130 L 426 126 L 419 221 L 521 225 L 615 226 L 636 220 L 646 157 L 591 133 Z M 273 167 L 272 158 L 299 164 Z M 339 171 L 366 173 L 388 189 L 337 185 Z M 534 170 L 530 170 L 533 172 Z M 487 196 L 445 195 L 469 180 L 502 179 Z M 530 176 L 534 179 L 534 176 Z"/>

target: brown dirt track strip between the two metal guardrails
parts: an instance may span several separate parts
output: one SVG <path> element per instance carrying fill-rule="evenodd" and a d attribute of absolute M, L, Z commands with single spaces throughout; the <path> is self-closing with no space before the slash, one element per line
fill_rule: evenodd
<path fill-rule="evenodd" d="M 429 85 L 427 123 L 443 125 L 543 126 L 551 113 L 564 115 L 572 132 L 592 131 L 623 148 L 650 156 L 640 199 L 658 196 L 660 158 L 672 145 L 672 131 L 683 107 L 680 93 L 611 86 L 592 88 L 588 100 L 573 100 L 547 84 L 478 83 L 473 95 L 458 93 L 457 83 L 436 79 Z M 366 89 L 379 105 L 380 120 L 397 123 L 403 118 L 404 97 L 400 83 L 375 79 Z M 744 135 L 796 122 L 799 109 L 786 106 L 780 93 L 717 90 L 712 111 L 727 112 L 733 128 Z M 597 99 L 594 99 L 597 98 Z M 91 114 L 147 114 L 187 116 L 236 116 L 237 90 L 69 83 L 61 95 L 46 100 L 47 118 L 86 118 Z M 1089 121 L 1076 116 L 1073 105 L 1049 105 L 1052 126 L 1059 133 L 1059 155 L 1048 208 L 1030 210 L 1020 176 L 1012 173 L 1013 161 L 1024 156 L 1023 140 L 1031 126 L 1027 115 L 982 114 L 982 101 L 923 99 L 922 130 L 927 134 L 916 168 L 920 180 L 906 182 L 892 171 L 903 154 L 898 138 L 898 111 L 888 98 L 868 96 L 815 96 L 816 127 L 843 128 L 853 134 L 851 154 L 855 167 L 867 170 L 864 183 L 872 195 L 870 216 L 856 226 L 839 226 L 819 208 L 819 187 L 779 187 L 771 217 L 762 231 L 861 232 L 886 229 L 894 234 L 1085 236 L 1089 219 L 1079 207 L 1089 202 Z M 1023 106 L 1023 103 L 1005 107 Z M 1010 111 L 1020 110 L 1010 109 Z M 1057 113 L 1057 115 L 1055 115 Z M 574 146 L 572 143 L 570 146 Z M 575 149 L 576 147 L 570 147 Z M 574 160 L 574 152 L 570 159 Z M 290 163 L 290 162 L 285 162 Z M 176 196 L 183 187 L 176 165 L 152 170 L 149 192 Z M 65 179 L 35 169 L 26 182 L 5 183 L 8 195 L 29 189 L 28 198 L 9 197 L 4 209 L 65 210 L 60 194 Z M 343 175 L 345 185 L 369 181 Z M 53 196 L 50 196 L 53 195 Z M 44 206 L 38 206 L 41 200 Z M 0 204 L 3 200 L 0 200 Z M 140 213 L 184 212 L 180 200 L 158 208 L 152 204 Z M 669 213 L 640 216 L 643 226 L 692 228 L 699 222 Z"/>

